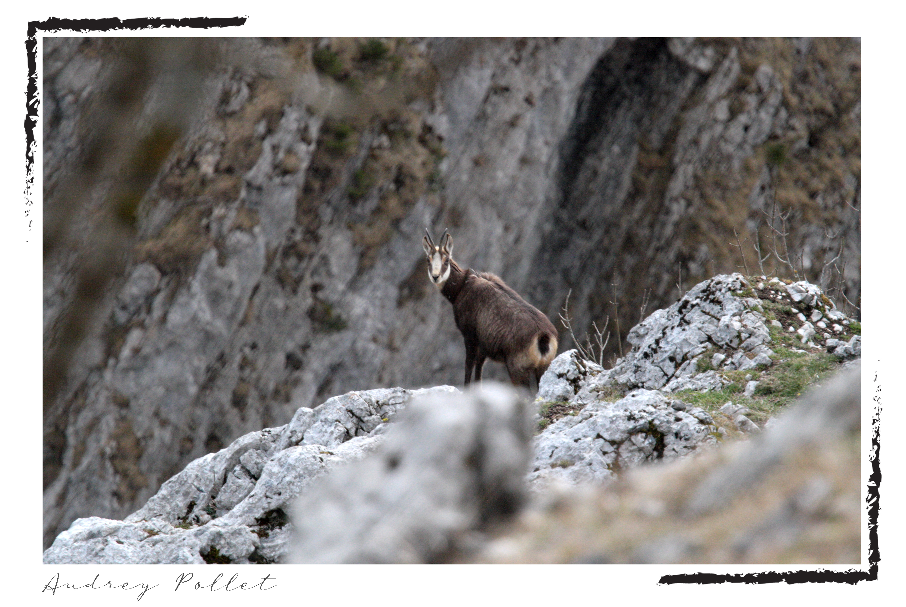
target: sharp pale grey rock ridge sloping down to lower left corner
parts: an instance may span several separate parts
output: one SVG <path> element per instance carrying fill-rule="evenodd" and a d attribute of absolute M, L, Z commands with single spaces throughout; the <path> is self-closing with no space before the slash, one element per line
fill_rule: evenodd
<path fill-rule="evenodd" d="M 44 551 L 45 564 L 274 563 L 286 553 L 296 496 L 333 468 L 364 458 L 415 398 L 449 386 L 349 392 L 289 424 L 250 432 L 191 462 L 125 520 L 81 518 Z"/>

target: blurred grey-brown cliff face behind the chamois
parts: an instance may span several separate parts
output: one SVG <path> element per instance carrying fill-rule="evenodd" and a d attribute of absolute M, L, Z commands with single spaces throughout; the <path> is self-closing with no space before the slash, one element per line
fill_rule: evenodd
<path fill-rule="evenodd" d="M 111 44 L 44 45 L 45 217 L 118 73 Z M 618 301 L 625 338 L 646 291 L 653 309 L 678 281 L 736 270 L 733 228 L 764 246 L 776 193 L 808 276 L 843 245 L 857 302 L 857 43 L 416 40 L 372 60 L 336 40 L 334 75 L 313 68 L 313 41 L 231 44 L 46 403 L 45 545 L 77 517 L 127 515 L 300 407 L 458 384 L 463 346 L 428 283 L 425 226 L 449 227 L 464 265 L 551 317 L 572 288 L 578 332 Z M 45 261 L 45 352 L 109 178 L 84 184 L 91 204 Z"/>

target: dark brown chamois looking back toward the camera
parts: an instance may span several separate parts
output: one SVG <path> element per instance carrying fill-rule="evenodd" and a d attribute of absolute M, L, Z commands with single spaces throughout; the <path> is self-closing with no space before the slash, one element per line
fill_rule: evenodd
<path fill-rule="evenodd" d="M 453 318 L 466 342 L 466 385 L 481 381 L 485 359 L 503 362 L 510 381 L 531 388 L 557 354 L 554 324 L 528 304 L 499 276 L 463 270 L 453 261 L 453 236 L 446 231 L 435 246 L 428 229 L 422 238 L 428 255 L 428 275 L 453 304 Z"/>

